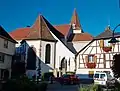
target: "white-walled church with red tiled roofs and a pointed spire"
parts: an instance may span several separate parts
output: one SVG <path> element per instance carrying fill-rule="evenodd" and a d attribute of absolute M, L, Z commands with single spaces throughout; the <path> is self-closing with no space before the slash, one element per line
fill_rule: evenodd
<path fill-rule="evenodd" d="M 16 54 L 20 61 L 25 61 L 29 77 L 37 76 L 38 71 L 53 72 L 55 76 L 75 72 L 76 54 L 93 40 L 93 36 L 82 29 L 76 9 L 69 24 L 54 26 L 43 15 L 38 15 L 33 25 L 9 34 L 18 42 Z"/>

